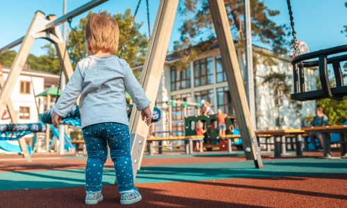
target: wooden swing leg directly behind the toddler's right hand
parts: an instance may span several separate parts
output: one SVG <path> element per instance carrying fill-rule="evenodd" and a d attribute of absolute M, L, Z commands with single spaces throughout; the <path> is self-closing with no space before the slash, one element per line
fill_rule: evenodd
<path fill-rule="evenodd" d="M 172 27 L 174 26 L 177 7 L 178 0 L 160 1 L 151 40 L 149 42 L 149 49 L 139 81 L 144 88 L 146 96 L 151 101 L 150 106 L 152 111 L 155 105 L 155 98 L 158 94 L 160 78 L 164 68 L 164 61 L 167 55 Z M 149 126 L 142 121 L 140 112 L 133 110 L 130 116 L 129 127 L 131 133 L 130 138 L 132 139 L 131 154 L 135 178 L 136 170 L 141 166 Z"/>

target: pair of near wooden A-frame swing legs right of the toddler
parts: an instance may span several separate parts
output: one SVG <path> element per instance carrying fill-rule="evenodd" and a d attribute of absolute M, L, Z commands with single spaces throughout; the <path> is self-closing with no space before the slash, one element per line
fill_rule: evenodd
<path fill-rule="evenodd" d="M 232 42 L 228 16 L 223 0 L 209 0 L 214 28 L 219 41 L 219 49 L 222 56 L 223 68 L 226 71 L 232 103 L 237 112 L 237 123 L 239 124 L 242 145 L 244 146 L 246 159 L 253 159 L 256 168 L 263 168 L 260 149 L 257 145 L 257 138 L 251 123 L 251 116 L 248 109 L 246 93 L 242 84 L 242 76 L 237 62 L 235 46 Z M 149 51 L 144 61 L 140 84 L 144 88 L 146 96 L 151 100 L 151 110 L 153 111 L 155 98 L 158 94 L 158 87 L 164 60 L 169 46 L 169 37 L 171 35 L 174 17 L 178 7 L 178 0 L 162 0 L 158 8 L 158 15 L 155 19 L 153 35 L 149 42 Z M 131 157 L 133 160 L 134 178 L 137 170 L 141 166 L 142 156 L 146 144 L 146 137 L 149 131 L 140 113 L 133 110 L 130 116 L 130 139 Z M 250 150 L 249 152 L 246 149 Z"/>

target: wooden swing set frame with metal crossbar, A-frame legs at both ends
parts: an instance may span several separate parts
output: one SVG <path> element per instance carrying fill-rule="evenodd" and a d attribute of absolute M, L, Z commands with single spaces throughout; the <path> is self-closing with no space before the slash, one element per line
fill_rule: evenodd
<path fill-rule="evenodd" d="M 23 68 L 24 60 L 28 57 L 28 52 L 35 38 L 45 38 L 56 46 L 58 58 L 62 61 L 62 69 L 65 73 L 67 81 L 73 73 L 69 54 L 65 49 L 65 44 L 62 40 L 59 25 L 80 15 L 81 13 L 98 6 L 106 0 L 94 0 L 80 8 L 76 8 L 71 12 L 59 17 L 49 15 L 44 19 L 44 13 L 37 11 L 28 28 L 28 32 L 22 38 L 15 42 L 8 44 L 0 49 L 0 54 L 8 51 L 13 46 L 22 43 L 19 52 L 12 64 L 10 73 L 6 82 L 4 83 L 0 94 L 0 112 L 8 105 L 10 94 L 13 90 L 13 83 L 19 77 L 19 73 Z M 226 77 L 228 80 L 228 87 L 230 88 L 230 95 L 237 112 L 237 121 L 240 128 L 241 136 L 243 139 L 242 146 L 244 147 L 244 154 L 246 159 L 252 159 L 256 168 L 263 168 L 262 158 L 260 156 L 260 148 L 257 145 L 257 139 L 251 123 L 251 116 L 248 110 L 248 103 L 246 100 L 246 93 L 244 91 L 244 84 L 237 62 L 237 55 L 235 46 L 232 40 L 230 31 L 228 15 L 223 0 L 208 0 L 214 28 L 216 31 L 217 39 L 219 41 L 219 49 L 221 51 L 223 68 L 226 70 Z M 155 19 L 154 28 L 152 31 L 151 39 L 149 42 L 149 49 L 147 51 L 146 59 L 144 61 L 142 75 L 139 80 L 142 85 L 146 96 L 151 101 L 151 110 L 155 105 L 155 98 L 158 94 L 158 87 L 164 67 L 164 60 L 169 46 L 169 39 L 174 24 L 176 10 L 178 7 L 178 0 L 162 0 L 158 7 L 157 17 Z M 131 27 L 131 26 L 130 26 Z M 64 57 L 64 58 L 63 58 Z M 1 83 L 0 83 L 1 84 Z M 11 112 L 10 112 L 11 114 Z M 13 120 L 12 120 L 13 121 Z M 130 116 L 130 140 L 131 140 L 131 155 L 133 162 L 134 177 L 136 177 L 137 170 L 141 166 L 142 155 L 144 152 L 144 144 L 146 144 L 146 137 L 149 132 L 149 127 L 142 121 L 141 114 L 133 111 Z M 25 143 L 25 142 L 24 142 Z M 22 149 L 25 145 L 21 143 Z M 247 149 L 247 150 L 246 150 Z M 27 152 L 27 151 L 26 151 Z M 24 154 L 26 155 L 26 154 Z"/>

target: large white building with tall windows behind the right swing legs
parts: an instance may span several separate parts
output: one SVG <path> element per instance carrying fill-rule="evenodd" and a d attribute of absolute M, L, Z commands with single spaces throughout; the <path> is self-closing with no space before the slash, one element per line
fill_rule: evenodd
<path fill-rule="evenodd" d="M 212 46 L 211 48 L 210 51 L 200 55 L 198 60 L 190 62 L 189 69 L 182 71 L 178 71 L 173 67 L 173 63 L 178 58 L 167 55 L 156 101 L 158 107 L 167 107 L 165 101 L 169 100 L 199 103 L 201 99 L 205 99 L 212 104 L 214 112 L 217 113 L 217 109 L 221 109 L 227 114 L 235 114 L 224 72 L 228 69 L 223 69 L 221 65 L 221 55 L 218 46 Z M 262 53 L 271 55 L 271 58 L 277 64 L 271 67 L 265 64 L 257 64 L 256 66 L 257 130 L 301 128 L 303 118 L 308 114 L 314 114 L 315 101 L 302 102 L 301 109 L 294 109 L 298 107 L 291 104 L 289 98 L 279 92 L 275 92 L 271 86 L 263 84 L 264 76 L 273 71 L 285 73 L 288 76 L 287 83 L 292 86 L 292 66 L 290 63 L 291 58 L 285 55 L 276 55 L 272 51 L 253 46 L 253 51 L 257 52 L 260 50 Z M 244 74 L 244 54 L 240 51 L 238 52 L 239 67 L 242 74 Z M 133 70 L 137 70 L 140 73 L 142 65 L 134 67 Z M 305 81 L 307 91 L 316 89 L 315 69 L 307 69 L 305 71 Z M 294 89 L 292 89 L 293 91 Z M 183 108 L 176 106 L 173 112 L 173 132 L 184 132 Z M 188 116 L 191 116 L 196 113 L 196 110 L 194 110 L 194 107 L 190 107 L 187 113 Z M 165 114 L 166 112 L 162 113 L 162 123 L 156 124 L 157 132 L 166 130 L 165 127 L 161 127 L 160 130 L 159 126 L 165 126 Z"/>

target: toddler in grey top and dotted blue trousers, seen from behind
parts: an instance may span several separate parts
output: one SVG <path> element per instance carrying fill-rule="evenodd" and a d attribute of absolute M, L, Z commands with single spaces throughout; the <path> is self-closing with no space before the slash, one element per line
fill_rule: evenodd
<path fill-rule="evenodd" d="M 52 122 L 58 128 L 62 117 L 67 116 L 81 94 L 80 112 L 83 139 L 88 158 L 85 168 L 85 204 L 95 205 L 103 200 L 101 180 L 103 165 L 110 156 L 115 164 L 121 205 L 142 199 L 134 187 L 133 164 L 130 156 L 129 122 L 126 112 L 126 90 L 142 121 L 151 123 L 151 101 L 137 82 L 126 60 L 117 52 L 119 28 L 117 21 L 107 13 L 99 12 L 88 17 L 85 26 L 87 58 L 77 63 L 69 83 L 53 106 Z"/>

